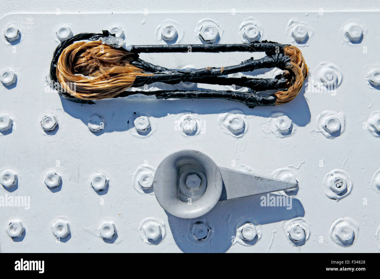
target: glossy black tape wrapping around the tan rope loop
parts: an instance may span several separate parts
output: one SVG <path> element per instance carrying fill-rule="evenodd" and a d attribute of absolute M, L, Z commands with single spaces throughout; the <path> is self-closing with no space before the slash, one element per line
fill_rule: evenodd
<path fill-rule="evenodd" d="M 57 61 L 65 49 L 70 44 L 75 41 L 97 41 L 102 37 L 114 35 L 109 33 L 107 30 L 103 30 L 103 33 L 80 33 L 75 35 L 65 41 L 63 41 L 55 49 L 53 54 L 53 59 L 50 67 L 50 77 L 51 82 L 55 90 L 59 92 L 64 98 L 80 103 L 94 104 L 91 100 L 82 100 L 71 96 L 69 93 L 65 92 L 60 86 L 57 80 Z M 131 63 L 144 71 L 150 71 L 155 73 L 153 76 L 138 76 L 134 82 L 134 87 L 142 86 L 145 84 L 151 84 L 154 82 L 165 82 L 168 84 L 177 84 L 180 81 L 188 82 L 198 82 L 198 83 L 208 83 L 208 84 L 219 84 L 219 85 L 232 85 L 249 87 L 252 90 L 262 91 L 268 89 L 278 89 L 284 87 L 287 83 L 286 79 L 249 79 L 247 77 L 240 78 L 228 78 L 223 77 L 236 72 L 243 71 L 253 71 L 259 68 L 280 68 L 285 69 L 290 63 L 290 58 L 286 55 L 278 52 L 283 52 L 283 48 L 288 45 L 279 44 L 275 42 L 254 42 L 250 44 L 187 44 L 187 45 L 147 45 L 147 46 L 133 46 L 131 52 L 136 53 L 134 61 Z M 138 58 L 138 53 L 142 52 L 257 52 L 265 51 L 268 56 L 263 57 L 258 60 L 253 60 L 250 58 L 243 61 L 239 65 L 227 66 L 222 68 L 204 68 L 195 69 L 188 71 L 173 71 L 168 68 L 153 65 L 149 62 L 141 60 Z M 157 73 L 158 72 L 158 73 Z M 165 72 L 165 73 L 163 73 Z M 156 95 L 158 99 L 169 99 L 169 98 L 219 98 L 228 99 L 231 101 L 242 102 L 248 107 L 256 106 L 274 106 L 275 96 L 274 95 L 257 95 L 255 92 L 238 92 L 238 91 L 214 91 L 214 90 L 194 90 L 194 91 L 180 91 L 180 90 L 158 90 L 158 91 L 125 91 L 120 94 L 122 96 L 129 96 L 131 94 L 143 93 L 145 95 Z M 116 98 L 116 97 L 115 97 Z"/>

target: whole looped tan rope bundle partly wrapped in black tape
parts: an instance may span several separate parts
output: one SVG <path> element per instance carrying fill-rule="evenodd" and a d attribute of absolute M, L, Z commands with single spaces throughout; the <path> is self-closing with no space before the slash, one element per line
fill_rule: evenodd
<path fill-rule="evenodd" d="M 249 107 L 273 106 L 294 99 L 307 76 L 307 66 L 301 51 L 294 46 L 274 42 L 215 45 L 147 45 L 131 46 L 128 50 L 101 42 L 103 34 L 81 33 L 63 41 L 55 49 L 50 76 L 54 88 L 71 101 L 93 103 L 92 100 L 116 98 L 142 93 L 157 98 L 221 98 L 243 102 Z M 111 37 L 113 38 L 113 37 Z M 153 65 L 139 58 L 139 53 L 152 52 L 265 52 L 260 59 L 247 59 L 238 65 L 207 67 L 194 70 L 173 70 Z M 283 74 L 273 79 L 227 77 L 229 74 L 263 68 L 279 68 Z M 239 91 L 125 91 L 154 82 L 179 82 L 237 85 L 252 92 Z M 258 95 L 257 91 L 279 90 L 272 95 Z"/>

